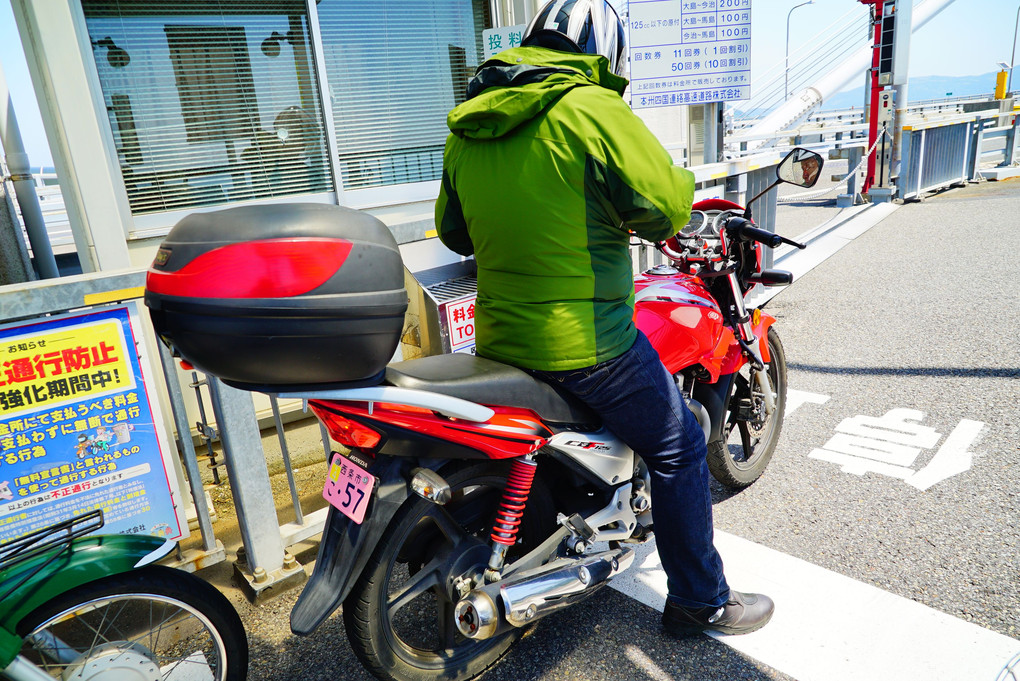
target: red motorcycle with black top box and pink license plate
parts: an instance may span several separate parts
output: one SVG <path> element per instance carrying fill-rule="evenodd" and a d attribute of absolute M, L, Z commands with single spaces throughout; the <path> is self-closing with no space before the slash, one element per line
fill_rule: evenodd
<path fill-rule="evenodd" d="M 773 187 L 813 186 L 820 169 L 820 156 L 795 149 Z M 636 277 L 635 321 L 698 415 L 712 472 L 741 488 L 768 464 L 786 397 L 775 320 L 744 297 L 792 281 L 762 269 L 761 247 L 794 242 L 733 203 L 694 209 L 657 245 L 671 264 Z M 146 304 L 180 356 L 230 384 L 308 400 L 343 448 L 291 623 L 310 634 L 343 605 L 354 651 L 380 679 L 477 676 L 525 627 L 629 567 L 628 544 L 650 536 L 643 462 L 581 402 L 471 355 L 387 364 L 403 268 L 390 231 L 364 213 L 189 216 L 149 270 Z"/>

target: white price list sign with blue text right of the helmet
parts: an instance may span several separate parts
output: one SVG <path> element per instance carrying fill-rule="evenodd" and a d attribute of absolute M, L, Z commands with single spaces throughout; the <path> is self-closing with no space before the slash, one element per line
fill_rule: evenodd
<path fill-rule="evenodd" d="M 751 0 L 631 0 L 634 109 L 751 97 Z"/>

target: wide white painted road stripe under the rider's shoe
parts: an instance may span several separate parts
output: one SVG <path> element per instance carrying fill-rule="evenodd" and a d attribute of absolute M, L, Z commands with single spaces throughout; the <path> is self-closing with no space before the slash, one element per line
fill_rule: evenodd
<path fill-rule="evenodd" d="M 767 593 L 763 629 L 720 642 L 798 681 L 994 681 L 1020 641 L 777 551 L 717 531 L 731 587 Z M 612 586 L 656 610 L 666 575 L 655 540 Z"/>

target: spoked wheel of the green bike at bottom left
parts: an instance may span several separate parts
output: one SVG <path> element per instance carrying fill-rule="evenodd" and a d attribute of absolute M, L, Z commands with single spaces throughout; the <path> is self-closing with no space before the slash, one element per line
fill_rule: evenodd
<path fill-rule="evenodd" d="M 147 566 L 61 593 L 18 623 L 21 654 L 57 678 L 244 681 L 248 639 L 195 575 Z"/>

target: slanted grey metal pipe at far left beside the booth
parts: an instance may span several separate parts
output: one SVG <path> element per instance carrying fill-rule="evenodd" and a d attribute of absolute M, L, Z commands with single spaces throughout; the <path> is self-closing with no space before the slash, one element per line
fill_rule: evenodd
<path fill-rule="evenodd" d="M 36 267 L 39 268 L 39 275 L 44 279 L 55 279 L 60 276 L 60 272 L 53 257 L 50 235 L 46 231 L 43 209 L 39 207 L 32 166 L 29 163 L 29 155 L 24 153 L 21 130 L 14 115 L 14 102 L 7 90 L 7 78 L 2 64 L 0 64 L 0 145 L 3 145 L 7 154 L 7 167 L 14 182 L 14 196 L 17 197 L 17 204 L 21 207 L 21 218 L 29 232 L 29 243 L 32 245 L 32 255 Z"/>

